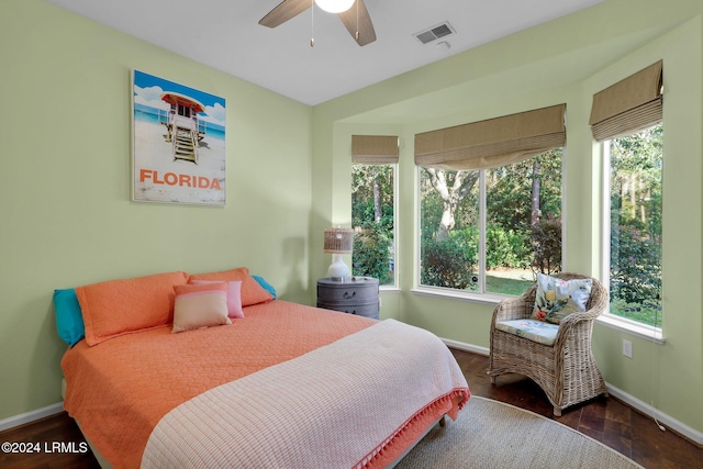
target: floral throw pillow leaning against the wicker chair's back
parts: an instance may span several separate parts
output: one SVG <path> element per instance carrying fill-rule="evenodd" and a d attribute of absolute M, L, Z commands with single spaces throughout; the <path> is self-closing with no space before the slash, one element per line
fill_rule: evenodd
<path fill-rule="evenodd" d="M 537 273 L 537 294 L 532 317 L 559 324 L 569 314 L 585 311 L 592 284 L 590 278 L 562 280 Z"/>

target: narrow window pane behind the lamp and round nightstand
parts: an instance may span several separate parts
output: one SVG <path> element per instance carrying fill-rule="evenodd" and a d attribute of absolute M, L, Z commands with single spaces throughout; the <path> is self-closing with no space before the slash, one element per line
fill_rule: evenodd
<path fill-rule="evenodd" d="M 395 168 L 352 166 L 352 273 L 395 284 Z"/>

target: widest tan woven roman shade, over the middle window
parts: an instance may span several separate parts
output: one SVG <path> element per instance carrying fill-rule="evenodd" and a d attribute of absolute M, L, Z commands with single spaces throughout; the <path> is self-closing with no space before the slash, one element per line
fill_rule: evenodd
<path fill-rule="evenodd" d="M 415 165 L 487 169 L 518 163 L 566 144 L 566 104 L 415 135 Z"/>

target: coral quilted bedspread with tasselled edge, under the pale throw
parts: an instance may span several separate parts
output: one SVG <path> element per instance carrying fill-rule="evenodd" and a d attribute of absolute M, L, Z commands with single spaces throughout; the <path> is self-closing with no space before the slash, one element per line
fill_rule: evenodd
<path fill-rule="evenodd" d="M 172 426 L 175 422 L 172 414 L 188 409 L 199 409 L 188 407 L 198 401 L 211 400 L 212 395 L 217 395 L 217 392 L 225 391 L 227 387 L 234 387 L 231 391 L 249 394 L 220 394 L 221 404 L 227 399 L 233 402 L 244 402 L 244 400 L 258 401 L 258 398 L 263 398 L 268 400 L 267 405 L 269 405 L 270 402 L 277 401 L 271 399 L 276 395 L 275 390 L 279 391 L 279 395 L 288 394 L 292 389 L 291 378 L 277 379 L 277 371 L 286 376 L 286 369 L 278 369 L 278 367 L 291 367 L 290 364 L 299 362 L 289 368 L 294 370 L 292 373 L 314 376 L 315 379 L 310 381 L 323 386 L 319 392 L 328 398 L 328 391 L 325 391 L 324 386 L 328 386 L 330 380 L 334 381 L 335 378 L 327 376 L 324 368 L 321 370 L 315 368 L 314 372 L 304 373 L 305 368 L 321 364 L 305 361 L 311 359 L 311 355 L 314 358 L 314 354 L 309 353 L 319 347 L 322 347 L 320 350 L 324 350 L 330 346 L 334 347 L 333 355 L 338 355 L 341 350 L 347 348 L 339 348 L 339 344 L 344 345 L 339 339 L 349 336 L 345 340 L 352 340 L 349 343 L 352 345 L 355 343 L 353 338 L 356 336 L 355 333 L 367 328 L 376 330 L 382 324 L 364 317 L 280 300 L 249 306 L 245 310 L 245 319 L 236 320 L 232 325 L 183 334 L 170 334 L 170 327 L 163 327 L 113 338 L 94 347 L 88 347 L 85 342 L 77 344 L 66 353 L 62 361 L 67 381 L 65 409 L 81 424 L 87 438 L 113 466 L 140 467 L 146 461 L 146 459 L 143 460 L 143 455 L 147 440 L 154 428 L 159 425 L 159 421 L 170 422 L 164 423 L 159 428 Z M 373 337 L 372 340 L 378 342 L 379 336 Z M 361 347 L 366 349 L 377 348 L 369 347 L 367 342 L 358 344 L 365 344 Z M 387 345 L 389 355 L 392 356 L 393 353 L 390 351 L 392 344 Z M 315 354 L 320 353 L 315 351 Z M 345 359 L 354 359 L 354 356 L 347 355 Z M 456 361 L 453 366 L 456 367 Z M 410 371 L 414 367 L 415 364 L 411 362 L 404 368 Z M 428 382 L 435 381 L 434 376 L 423 376 Z M 392 451 L 387 451 L 386 456 L 391 457 L 398 451 L 402 453 L 405 447 L 414 443 L 413 438 L 427 427 L 426 421 L 434 420 L 436 415 L 445 412 L 456 412 L 468 400 L 468 388 L 462 376 L 457 379 L 459 381 L 456 387 L 453 384 L 444 395 L 437 395 L 432 402 L 417 406 L 411 415 L 403 417 L 405 421 L 394 428 L 386 440 L 376 442 L 367 448 L 368 455 L 378 454 L 373 461 L 386 462 L 387 458 L 381 456 L 384 455 L 386 447 L 393 446 L 393 442 L 398 444 Z M 245 386 L 247 381 L 250 381 L 254 387 Z M 410 387 L 416 386 L 413 381 L 408 383 L 403 381 L 403 383 Z M 343 386 L 343 388 L 350 387 Z M 211 389 L 213 391 L 205 392 Z M 403 387 L 399 389 L 402 390 Z M 339 389 L 334 392 L 337 391 Z M 380 389 L 378 398 L 386 398 L 387 402 L 404 401 L 406 398 L 398 394 L 390 395 L 391 399 L 388 399 L 389 392 L 398 392 L 398 390 Z M 226 397 L 222 398 L 222 395 Z M 330 402 L 334 406 L 334 399 Z M 181 404 L 183 405 L 179 407 Z M 290 402 L 284 405 L 289 406 Z M 423 406 L 428 406 L 431 411 Z M 214 414 L 217 414 L 222 407 L 220 405 Z M 334 415 L 335 410 L 323 407 L 319 411 L 328 417 Z M 204 411 L 199 409 L 196 412 Z M 346 417 L 343 415 L 342 420 Z M 336 418 L 339 420 L 339 416 Z M 213 421 L 208 420 L 208 422 Z M 190 427 L 192 422 L 185 421 L 183 424 Z M 373 425 L 373 422 L 367 423 L 367 427 Z M 397 434 L 395 439 L 393 439 L 394 434 Z M 171 436 L 174 436 L 172 432 Z M 352 435 L 337 434 L 337 436 L 354 438 Z M 224 440 L 226 439 L 227 437 L 224 437 Z M 219 449 L 223 453 L 233 450 L 225 447 Z M 153 455 L 153 453 L 149 454 Z M 157 465 L 158 460 L 157 457 Z M 359 460 L 359 462 L 362 461 Z"/>

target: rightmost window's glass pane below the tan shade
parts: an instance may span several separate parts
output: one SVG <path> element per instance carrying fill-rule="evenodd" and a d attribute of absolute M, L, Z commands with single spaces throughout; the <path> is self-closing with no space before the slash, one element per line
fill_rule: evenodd
<path fill-rule="evenodd" d="M 603 143 L 610 314 L 654 327 L 661 325 L 662 135 L 658 124 Z"/>

